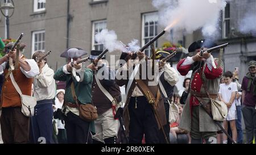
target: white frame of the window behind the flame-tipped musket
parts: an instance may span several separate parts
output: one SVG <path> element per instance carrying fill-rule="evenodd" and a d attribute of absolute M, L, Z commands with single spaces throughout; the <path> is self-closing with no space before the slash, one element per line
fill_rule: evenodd
<path fill-rule="evenodd" d="M 145 17 L 146 16 L 152 16 L 153 18 L 155 18 L 155 20 L 154 20 L 154 32 L 153 32 L 153 34 L 154 34 L 154 36 L 144 36 L 145 34 L 144 34 L 144 23 L 145 23 Z M 155 22 L 157 22 L 156 24 L 155 24 Z M 156 27 L 156 28 L 155 28 Z M 158 12 L 150 12 L 150 13 L 144 13 L 144 14 L 142 14 L 142 41 L 141 41 L 141 43 L 142 43 L 142 46 L 143 45 L 145 45 L 146 43 L 145 43 L 145 40 L 146 39 L 152 39 L 153 37 L 155 37 L 156 35 L 158 35 L 157 34 L 157 32 L 158 32 Z M 148 33 L 150 33 L 150 28 L 148 27 Z M 149 35 L 149 34 L 148 34 Z M 158 44 L 158 40 L 156 40 L 155 42 L 154 42 L 154 45 L 155 45 L 155 47 L 157 47 L 157 44 Z M 150 53 L 151 53 L 151 49 L 149 50 L 149 51 L 146 51 L 147 49 L 150 49 L 150 47 L 148 47 L 148 48 L 146 48 L 145 49 L 145 53 L 146 53 L 146 55 L 147 56 L 150 56 Z"/>

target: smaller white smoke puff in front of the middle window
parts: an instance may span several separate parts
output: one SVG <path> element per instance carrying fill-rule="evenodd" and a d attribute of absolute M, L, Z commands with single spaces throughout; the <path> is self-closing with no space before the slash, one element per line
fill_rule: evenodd
<path fill-rule="evenodd" d="M 109 52 L 115 51 L 115 50 L 125 50 L 125 47 L 123 47 L 123 44 L 117 40 L 117 35 L 115 34 L 115 31 L 108 29 L 102 30 L 100 33 L 97 33 L 95 35 L 95 40 L 98 43 L 104 44 L 105 48 L 109 50 Z"/>

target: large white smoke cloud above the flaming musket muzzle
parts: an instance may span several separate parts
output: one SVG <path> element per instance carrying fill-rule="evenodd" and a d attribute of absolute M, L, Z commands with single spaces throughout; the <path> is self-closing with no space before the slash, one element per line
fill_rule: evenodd
<path fill-rule="evenodd" d="M 205 37 L 216 36 L 224 0 L 152 0 L 159 10 L 159 24 L 191 33 L 202 28 Z"/>

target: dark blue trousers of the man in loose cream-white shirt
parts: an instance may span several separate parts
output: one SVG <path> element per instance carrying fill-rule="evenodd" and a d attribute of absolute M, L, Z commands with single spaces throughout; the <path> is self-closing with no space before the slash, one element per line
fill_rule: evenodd
<path fill-rule="evenodd" d="M 30 122 L 32 143 L 53 143 L 52 139 L 52 100 L 39 100 Z"/>

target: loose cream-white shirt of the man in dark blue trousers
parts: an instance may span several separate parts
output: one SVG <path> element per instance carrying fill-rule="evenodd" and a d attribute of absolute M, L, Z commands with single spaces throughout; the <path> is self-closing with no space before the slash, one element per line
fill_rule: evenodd
<path fill-rule="evenodd" d="M 36 100 L 55 98 L 55 79 L 54 71 L 46 64 L 42 68 L 42 73 L 34 78 L 34 97 Z"/>

